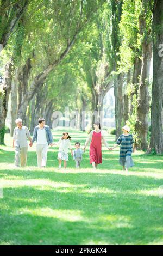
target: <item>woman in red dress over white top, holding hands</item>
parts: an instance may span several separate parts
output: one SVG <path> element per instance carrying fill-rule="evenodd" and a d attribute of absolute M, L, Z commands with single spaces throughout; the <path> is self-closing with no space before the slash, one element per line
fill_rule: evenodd
<path fill-rule="evenodd" d="M 95 130 L 91 131 L 89 137 L 87 138 L 84 150 L 86 146 L 90 144 L 90 163 L 93 166 L 93 169 L 96 169 L 99 163 L 102 163 L 102 141 L 105 144 L 106 148 L 109 148 L 108 143 L 104 137 L 104 133 L 101 131 L 101 126 L 99 122 L 96 122 L 94 125 Z"/>

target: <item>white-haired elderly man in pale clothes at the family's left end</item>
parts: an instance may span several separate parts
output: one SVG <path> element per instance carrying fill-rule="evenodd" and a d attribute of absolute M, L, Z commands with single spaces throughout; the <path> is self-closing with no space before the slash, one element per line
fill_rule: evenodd
<path fill-rule="evenodd" d="M 27 163 L 27 138 L 30 141 L 30 147 L 32 147 L 32 138 L 30 137 L 28 128 L 22 125 L 21 118 L 16 119 L 15 123 L 17 125 L 13 134 L 13 147 L 15 147 L 15 166 L 24 167 Z"/>

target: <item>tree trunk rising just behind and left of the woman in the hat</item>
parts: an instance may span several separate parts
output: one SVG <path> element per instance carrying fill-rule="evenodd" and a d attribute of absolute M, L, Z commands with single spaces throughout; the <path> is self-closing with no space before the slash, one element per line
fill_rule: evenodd
<path fill-rule="evenodd" d="M 115 120 L 116 120 L 116 139 L 122 133 L 122 120 L 123 120 L 123 74 L 118 74 L 115 79 L 114 85 L 115 95 Z"/>

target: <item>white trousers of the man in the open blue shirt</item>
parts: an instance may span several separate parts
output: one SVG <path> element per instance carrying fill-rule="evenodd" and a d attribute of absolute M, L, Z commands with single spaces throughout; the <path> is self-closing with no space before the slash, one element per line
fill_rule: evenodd
<path fill-rule="evenodd" d="M 47 161 L 48 144 L 36 145 L 37 166 L 45 167 Z"/>

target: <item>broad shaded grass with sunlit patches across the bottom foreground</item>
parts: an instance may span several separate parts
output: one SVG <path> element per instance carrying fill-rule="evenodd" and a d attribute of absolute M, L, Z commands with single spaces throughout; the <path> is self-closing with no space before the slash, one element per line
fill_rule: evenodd
<path fill-rule="evenodd" d="M 89 193 L 85 188 L 4 188 L 1 240 L 23 245 L 147 244 L 161 240 L 160 198 L 137 195 L 135 188 L 118 191 L 116 185 L 106 193 Z"/>

